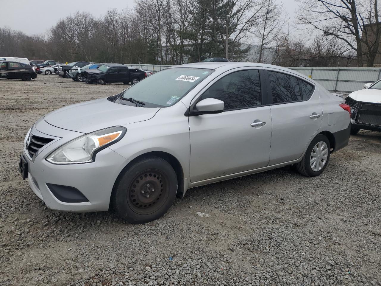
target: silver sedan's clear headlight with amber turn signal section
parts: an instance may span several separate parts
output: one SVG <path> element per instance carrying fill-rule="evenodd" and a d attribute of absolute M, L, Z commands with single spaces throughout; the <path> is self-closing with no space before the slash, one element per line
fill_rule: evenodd
<path fill-rule="evenodd" d="M 126 131 L 115 126 L 83 135 L 54 150 L 46 160 L 53 164 L 94 162 L 96 153 L 122 139 Z"/>

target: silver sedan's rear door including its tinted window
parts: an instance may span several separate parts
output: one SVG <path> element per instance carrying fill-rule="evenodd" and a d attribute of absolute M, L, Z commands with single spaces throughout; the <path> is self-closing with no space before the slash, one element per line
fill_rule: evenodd
<path fill-rule="evenodd" d="M 298 159 L 320 129 L 319 89 L 297 76 L 268 69 L 272 136 L 269 165 Z"/>

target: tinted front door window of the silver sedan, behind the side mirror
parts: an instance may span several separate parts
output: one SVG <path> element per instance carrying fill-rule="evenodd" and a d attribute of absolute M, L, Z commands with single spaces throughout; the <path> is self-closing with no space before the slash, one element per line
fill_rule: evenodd
<path fill-rule="evenodd" d="M 208 97 L 224 101 L 224 110 L 261 105 L 259 71 L 237 71 L 224 76 L 202 95 L 202 99 Z"/>

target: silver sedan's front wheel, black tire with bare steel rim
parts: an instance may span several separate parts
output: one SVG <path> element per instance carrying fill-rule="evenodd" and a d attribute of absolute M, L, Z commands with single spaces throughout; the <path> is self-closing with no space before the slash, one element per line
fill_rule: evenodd
<path fill-rule="evenodd" d="M 145 157 L 128 166 L 115 182 L 111 205 L 121 219 L 146 223 L 165 214 L 176 193 L 172 166 L 160 157 Z"/>

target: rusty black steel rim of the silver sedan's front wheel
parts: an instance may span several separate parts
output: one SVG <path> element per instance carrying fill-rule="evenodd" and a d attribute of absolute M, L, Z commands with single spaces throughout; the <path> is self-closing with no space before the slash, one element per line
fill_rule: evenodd
<path fill-rule="evenodd" d="M 159 210 L 168 199 L 168 177 L 160 170 L 149 169 L 134 178 L 127 190 L 127 202 L 136 214 Z"/>

